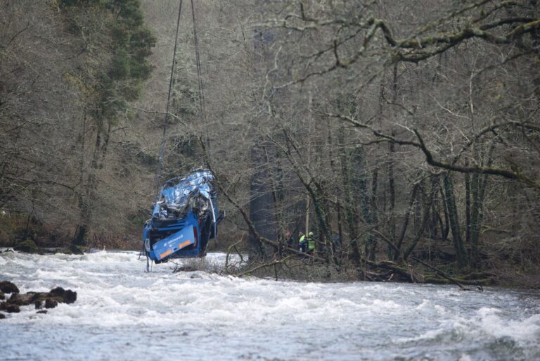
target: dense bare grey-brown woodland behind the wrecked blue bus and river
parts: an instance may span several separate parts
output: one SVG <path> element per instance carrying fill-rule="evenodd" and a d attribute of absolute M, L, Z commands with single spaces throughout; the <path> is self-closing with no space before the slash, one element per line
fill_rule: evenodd
<path fill-rule="evenodd" d="M 139 248 L 180 2 L 0 0 L 4 244 Z M 182 2 L 162 179 L 212 168 L 219 247 L 534 284 L 537 1 Z"/>

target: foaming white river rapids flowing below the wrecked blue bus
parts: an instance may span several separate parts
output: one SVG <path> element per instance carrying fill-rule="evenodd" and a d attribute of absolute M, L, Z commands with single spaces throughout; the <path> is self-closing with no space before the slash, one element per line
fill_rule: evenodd
<path fill-rule="evenodd" d="M 137 253 L 1 253 L 0 281 L 77 301 L 3 312 L 0 360 L 540 360 L 539 291 L 145 267 Z"/>

